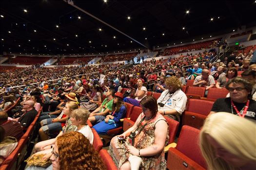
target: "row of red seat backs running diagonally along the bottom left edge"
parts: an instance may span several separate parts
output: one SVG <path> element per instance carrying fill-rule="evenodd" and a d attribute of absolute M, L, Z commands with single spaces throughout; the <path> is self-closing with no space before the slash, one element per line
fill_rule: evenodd
<path fill-rule="evenodd" d="M 23 150 L 27 148 L 26 145 L 28 145 L 30 142 L 30 136 L 35 129 L 35 125 L 37 123 L 41 110 L 42 110 L 42 107 L 39 109 L 36 118 L 27 128 L 25 134 L 18 141 L 18 145 L 15 148 L 15 150 L 2 162 L 0 166 L 0 170 L 11 170 L 13 167 L 15 167 L 15 170 L 19 169 L 20 164 L 23 161 L 25 156 L 25 152 L 23 152 Z M 15 163 L 16 165 L 14 165 Z"/>

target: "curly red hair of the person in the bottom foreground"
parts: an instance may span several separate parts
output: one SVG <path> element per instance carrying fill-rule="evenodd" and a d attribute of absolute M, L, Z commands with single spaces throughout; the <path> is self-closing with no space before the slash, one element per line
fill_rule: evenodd
<path fill-rule="evenodd" d="M 60 170 L 104 170 L 104 164 L 90 141 L 79 132 L 57 138 Z"/>

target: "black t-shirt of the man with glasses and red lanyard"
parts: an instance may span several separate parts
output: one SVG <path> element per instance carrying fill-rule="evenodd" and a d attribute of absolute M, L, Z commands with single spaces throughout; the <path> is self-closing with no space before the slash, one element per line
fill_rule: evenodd
<path fill-rule="evenodd" d="M 234 104 L 236 105 L 237 110 L 241 111 L 242 108 L 246 105 L 246 102 L 245 103 L 234 102 Z M 231 110 L 231 99 L 230 98 L 220 98 L 220 99 L 217 99 L 214 102 L 214 105 L 213 105 L 213 108 L 212 108 L 211 111 L 213 111 L 213 112 L 228 112 L 228 113 L 232 113 L 232 110 Z M 237 115 L 236 114 L 236 110 L 235 110 L 234 107 L 233 107 L 233 114 Z M 240 114 L 242 114 L 242 113 L 240 113 Z M 245 118 L 255 119 L 256 120 L 256 101 L 250 100 L 250 104 L 249 104 L 248 110 L 247 110 L 247 112 L 245 114 Z"/>

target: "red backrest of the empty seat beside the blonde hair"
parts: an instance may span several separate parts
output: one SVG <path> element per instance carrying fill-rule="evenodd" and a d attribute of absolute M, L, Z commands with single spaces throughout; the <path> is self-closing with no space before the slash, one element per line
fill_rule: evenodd
<path fill-rule="evenodd" d="M 199 133 L 200 130 L 196 128 L 186 125 L 182 126 L 176 149 L 200 166 L 206 168 L 207 166 L 199 147 Z"/>

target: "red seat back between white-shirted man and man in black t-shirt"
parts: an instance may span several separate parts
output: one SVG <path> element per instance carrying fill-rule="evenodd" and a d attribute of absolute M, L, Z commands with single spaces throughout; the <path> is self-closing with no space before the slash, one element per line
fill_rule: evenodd
<path fill-rule="evenodd" d="M 213 104 L 214 102 L 211 101 L 190 99 L 188 102 L 187 111 L 207 116 L 210 113 Z"/>

